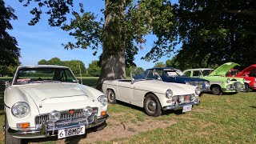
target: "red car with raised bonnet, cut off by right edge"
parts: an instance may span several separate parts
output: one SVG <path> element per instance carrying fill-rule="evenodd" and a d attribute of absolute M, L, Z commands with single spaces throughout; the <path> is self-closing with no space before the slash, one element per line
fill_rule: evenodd
<path fill-rule="evenodd" d="M 234 78 L 245 78 L 246 92 L 250 90 L 256 90 L 256 64 L 248 66 L 238 74 L 233 76 Z"/>

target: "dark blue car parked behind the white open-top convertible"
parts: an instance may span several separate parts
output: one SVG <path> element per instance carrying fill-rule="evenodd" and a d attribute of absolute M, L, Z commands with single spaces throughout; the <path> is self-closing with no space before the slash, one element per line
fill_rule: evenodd
<path fill-rule="evenodd" d="M 210 82 L 208 80 L 202 78 L 187 77 L 185 74 L 182 73 L 181 70 L 173 67 L 154 67 L 148 70 L 154 70 L 155 72 L 157 72 L 162 78 L 162 81 L 164 82 L 176 82 L 192 86 L 198 86 L 202 89 L 202 92 L 210 90 Z"/>

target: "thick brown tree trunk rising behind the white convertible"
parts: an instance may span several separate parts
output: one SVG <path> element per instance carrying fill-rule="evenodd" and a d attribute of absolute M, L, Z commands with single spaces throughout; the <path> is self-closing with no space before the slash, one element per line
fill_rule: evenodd
<path fill-rule="evenodd" d="M 126 78 L 125 70 L 125 0 L 106 0 L 102 70 L 96 89 L 102 90 L 102 82 Z"/>

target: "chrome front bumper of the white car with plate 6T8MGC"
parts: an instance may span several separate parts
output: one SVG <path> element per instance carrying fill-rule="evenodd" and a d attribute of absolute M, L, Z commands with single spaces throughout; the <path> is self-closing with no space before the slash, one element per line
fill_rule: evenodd
<path fill-rule="evenodd" d="M 58 130 L 63 130 L 63 129 L 68 129 L 72 127 L 77 127 L 77 126 L 86 126 L 86 129 L 89 129 L 94 126 L 98 126 L 102 124 L 103 122 L 106 121 L 106 119 L 109 118 L 109 114 L 106 114 L 102 118 L 97 118 L 94 119 L 94 122 L 92 123 L 79 123 L 79 124 L 74 124 L 70 126 L 62 126 L 60 129 L 55 129 L 54 132 L 52 130 L 45 130 L 42 128 L 41 130 L 13 130 L 13 129 L 8 129 L 8 132 L 14 136 L 15 138 L 45 138 L 45 137 L 50 137 L 58 134 Z"/>

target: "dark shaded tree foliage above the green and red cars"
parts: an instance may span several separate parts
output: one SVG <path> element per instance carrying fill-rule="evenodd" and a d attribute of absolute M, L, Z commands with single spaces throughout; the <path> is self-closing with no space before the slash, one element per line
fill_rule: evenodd
<path fill-rule="evenodd" d="M 243 67 L 256 62 L 256 2 L 253 0 L 179 1 L 174 5 L 182 49 L 176 61 L 209 67 L 238 62 Z"/>

